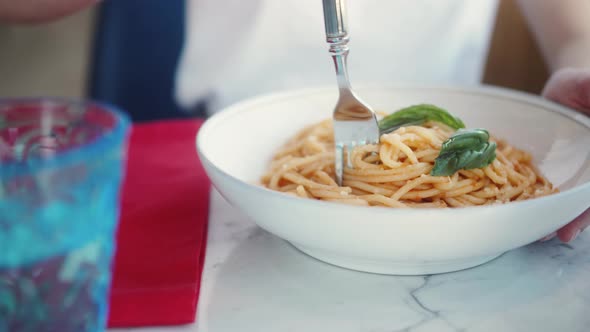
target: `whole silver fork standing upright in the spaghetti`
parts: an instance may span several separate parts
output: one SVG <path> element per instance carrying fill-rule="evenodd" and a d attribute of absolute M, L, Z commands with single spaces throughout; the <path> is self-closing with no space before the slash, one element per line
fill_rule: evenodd
<path fill-rule="evenodd" d="M 340 96 L 334 108 L 335 171 L 338 185 L 342 185 L 344 159 L 352 167 L 350 152 L 357 145 L 377 143 L 379 126 L 375 112 L 352 91 L 346 69 L 348 56 L 348 27 L 345 0 L 322 0 L 326 40 L 336 68 Z"/>

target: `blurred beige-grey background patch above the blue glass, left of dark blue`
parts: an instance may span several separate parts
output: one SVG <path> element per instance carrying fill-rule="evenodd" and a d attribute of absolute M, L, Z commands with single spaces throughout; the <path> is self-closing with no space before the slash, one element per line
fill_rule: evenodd
<path fill-rule="evenodd" d="M 0 25 L 0 95 L 86 93 L 97 10 L 55 23 Z"/>

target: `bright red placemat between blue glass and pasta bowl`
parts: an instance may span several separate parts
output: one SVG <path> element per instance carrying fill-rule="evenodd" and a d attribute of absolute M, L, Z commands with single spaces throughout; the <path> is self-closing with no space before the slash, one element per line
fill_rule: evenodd
<path fill-rule="evenodd" d="M 207 239 L 202 121 L 139 124 L 129 141 L 109 327 L 193 322 Z"/>

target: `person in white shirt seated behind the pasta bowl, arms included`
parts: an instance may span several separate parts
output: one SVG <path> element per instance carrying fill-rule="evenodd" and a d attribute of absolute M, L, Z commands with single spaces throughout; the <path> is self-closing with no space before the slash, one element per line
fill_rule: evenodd
<path fill-rule="evenodd" d="M 39 22 L 99 0 L 0 0 L 0 21 Z M 185 107 L 334 84 L 319 0 L 187 0 L 176 73 Z M 543 96 L 590 114 L 590 1 L 519 0 L 551 69 Z M 497 0 L 350 0 L 353 84 L 478 84 Z M 572 241 L 590 210 L 557 232 Z"/>

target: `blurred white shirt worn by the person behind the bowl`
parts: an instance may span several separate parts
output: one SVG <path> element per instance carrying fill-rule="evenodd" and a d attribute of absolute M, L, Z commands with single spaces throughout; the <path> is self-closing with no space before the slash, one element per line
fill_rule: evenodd
<path fill-rule="evenodd" d="M 352 85 L 477 84 L 497 0 L 349 0 Z M 189 0 L 176 75 L 184 107 L 336 84 L 320 0 Z"/>

